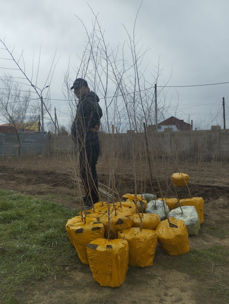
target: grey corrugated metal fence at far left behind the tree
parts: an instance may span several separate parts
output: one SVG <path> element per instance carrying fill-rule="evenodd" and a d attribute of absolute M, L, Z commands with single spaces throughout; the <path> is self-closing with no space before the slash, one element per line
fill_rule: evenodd
<path fill-rule="evenodd" d="M 20 134 L 20 139 L 23 140 L 23 134 Z M 41 154 L 44 149 L 49 146 L 50 134 L 36 133 L 26 135 L 22 148 L 21 155 Z M 17 155 L 19 147 L 16 133 L 0 133 L 0 156 Z"/>

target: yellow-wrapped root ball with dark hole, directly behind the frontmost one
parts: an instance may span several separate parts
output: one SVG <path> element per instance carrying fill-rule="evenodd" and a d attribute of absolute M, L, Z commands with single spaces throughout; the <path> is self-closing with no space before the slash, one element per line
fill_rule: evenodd
<path fill-rule="evenodd" d="M 104 215 L 100 217 L 100 222 L 103 223 L 105 228 L 105 238 L 108 237 L 108 216 Z M 117 211 L 116 215 L 113 213 L 110 215 L 110 239 L 114 239 L 118 236 L 118 231 L 125 230 L 133 227 L 134 218 L 130 212 Z"/>

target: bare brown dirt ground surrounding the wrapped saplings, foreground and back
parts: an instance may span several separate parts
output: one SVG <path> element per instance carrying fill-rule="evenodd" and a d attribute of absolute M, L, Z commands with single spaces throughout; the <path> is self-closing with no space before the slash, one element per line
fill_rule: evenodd
<path fill-rule="evenodd" d="M 98 162 L 99 182 L 108 185 L 109 168 L 104 160 Z M 134 192 L 133 164 L 123 161 L 116 171 L 116 186 L 120 195 Z M 177 172 L 170 166 L 169 174 L 163 164 L 156 165 L 164 196 L 172 197 L 172 187 L 167 185 L 167 176 Z M 180 168 L 189 174 L 189 189 L 192 196 L 201 196 L 205 201 L 204 223 L 197 236 L 189 237 L 190 248 L 210 248 L 221 245 L 229 249 L 228 235 L 220 236 L 229 229 L 229 166 L 225 163 L 196 164 L 181 163 Z M 154 190 L 160 196 L 154 180 Z M 141 191 L 140 177 L 137 183 Z M 78 206 L 78 192 L 71 177 L 68 161 L 52 159 L 0 160 L 0 188 L 30 195 L 42 196 L 64 206 Z M 143 191 L 151 192 L 148 173 L 144 177 Z M 189 197 L 186 188 L 178 189 L 180 198 Z M 212 229 L 218 231 L 213 233 Z M 20 294 L 20 303 L 213 303 L 211 288 L 223 277 L 228 278 L 229 266 L 209 264 L 212 279 L 201 279 L 182 271 L 165 269 L 159 261 L 170 257 L 157 246 L 154 265 L 147 268 L 130 268 L 126 281 L 120 288 L 102 288 L 93 281 L 89 266 L 64 266 L 66 275 L 38 282 Z M 74 270 L 73 270 L 74 268 Z M 215 278 L 218 278 L 215 281 Z M 228 288 L 228 286 L 227 286 Z M 51 293 L 50 293 L 51 292 Z M 220 299 L 228 303 L 228 299 Z"/>

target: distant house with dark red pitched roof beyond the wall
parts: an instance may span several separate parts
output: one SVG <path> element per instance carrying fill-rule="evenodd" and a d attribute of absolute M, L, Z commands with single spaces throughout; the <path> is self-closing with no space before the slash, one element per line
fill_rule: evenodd
<path fill-rule="evenodd" d="M 190 131 L 193 130 L 193 127 L 189 123 L 184 122 L 184 119 L 178 119 L 171 116 L 168 119 L 158 123 L 158 132 L 168 131 L 165 129 L 171 131 Z M 148 130 L 155 131 L 155 125 L 149 125 Z"/>

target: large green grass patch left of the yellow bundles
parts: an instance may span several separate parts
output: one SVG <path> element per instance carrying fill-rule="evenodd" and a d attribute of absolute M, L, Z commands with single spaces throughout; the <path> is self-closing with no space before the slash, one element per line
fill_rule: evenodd
<path fill-rule="evenodd" d="M 32 196 L 0 191 L 1 303 L 19 303 L 16 293 L 39 279 L 63 275 L 61 264 L 79 259 L 65 232 L 78 210 Z"/>

